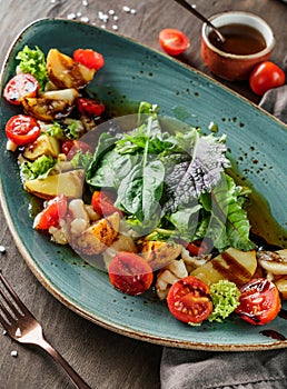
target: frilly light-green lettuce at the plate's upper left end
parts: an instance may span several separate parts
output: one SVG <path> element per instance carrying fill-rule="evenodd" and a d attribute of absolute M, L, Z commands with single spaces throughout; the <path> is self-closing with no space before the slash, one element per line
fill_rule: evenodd
<path fill-rule="evenodd" d="M 44 53 L 37 46 L 34 49 L 30 49 L 26 44 L 24 48 L 17 53 L 16 59 L 20 60 L 19 68 L 21 71 L 32 74 L 40 83 L 40 89 L 43 90 L 49 80 Z"/>

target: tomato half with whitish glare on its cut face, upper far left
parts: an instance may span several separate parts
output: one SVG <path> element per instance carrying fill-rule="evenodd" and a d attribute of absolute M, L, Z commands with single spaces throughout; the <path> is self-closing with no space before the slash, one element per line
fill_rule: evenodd
<path fill-rule="evenodd" d="M 3 97 L 12 104 L 19 106 L 22 98 L 36 97 L 39 88 L 40 84 L 32 74 L 21 73 L 7 83 Z"/>

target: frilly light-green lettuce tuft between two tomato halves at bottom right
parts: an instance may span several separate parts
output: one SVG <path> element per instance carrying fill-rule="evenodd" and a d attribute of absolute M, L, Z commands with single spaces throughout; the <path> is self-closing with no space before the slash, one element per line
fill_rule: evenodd
<path fill-rule="evenodd" d="M 234 282 L 220 280 L 210 287 L 214 310 L 208 321 L 222 322 L 239 305 L 240 291 Z"/>

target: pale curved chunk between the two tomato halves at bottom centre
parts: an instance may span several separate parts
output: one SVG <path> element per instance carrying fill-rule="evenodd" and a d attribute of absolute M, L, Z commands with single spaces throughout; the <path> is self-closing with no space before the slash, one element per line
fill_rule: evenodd
<path fill-rule="evenodd" d="M 159 299 L 166 299 L 171 285 L 187 276 L 188 271 L 182 259 L 172 260 L 168 266 L 161 269 L 156 281 L 156 292 Z"/>

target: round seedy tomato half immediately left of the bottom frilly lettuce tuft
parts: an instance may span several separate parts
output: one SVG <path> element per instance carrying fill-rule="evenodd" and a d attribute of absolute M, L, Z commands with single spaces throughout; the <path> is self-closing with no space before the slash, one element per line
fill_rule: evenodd
<path fill-rule="evenodd" d="M 169 289 L 167 303 L 171 315 L 180 321 L 199 323 L 212 311 L 209 287 L 188 276 L 179 279 Z"/>

